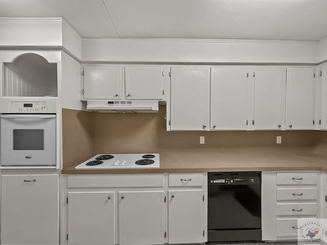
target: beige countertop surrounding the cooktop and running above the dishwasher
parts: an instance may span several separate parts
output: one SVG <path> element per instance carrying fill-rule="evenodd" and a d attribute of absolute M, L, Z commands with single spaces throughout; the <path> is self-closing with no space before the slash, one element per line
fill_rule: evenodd
<path fill-rule="evenodd" d="M 96 155 L 96 154 L 95 154 Z M 85 159 L 87 160 L 87 159 Z M 213 171 L 323 170 L 327 156 L 308 148 L 229 148 L 209 152 L 160 153 L 160 167 L 147 169 L 63 168 L 62 174 L 200 173 Z"/>

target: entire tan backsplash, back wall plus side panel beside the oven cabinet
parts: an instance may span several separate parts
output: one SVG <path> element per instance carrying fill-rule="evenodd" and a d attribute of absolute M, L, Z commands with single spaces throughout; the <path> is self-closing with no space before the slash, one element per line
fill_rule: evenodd
<path fill-rule="evenodd" d="M 158 113 L 98 113 L 63 109 L 63 164 L 96 154 L 218 152 L 224 148 L 307 146 L 318 154 L 327 146 L 323 131 L 166 131 L 166 106 Z M 282 144 L 276 144 L 276 135 Z M 205 144 L 199 143 L 205 136 Z"/>

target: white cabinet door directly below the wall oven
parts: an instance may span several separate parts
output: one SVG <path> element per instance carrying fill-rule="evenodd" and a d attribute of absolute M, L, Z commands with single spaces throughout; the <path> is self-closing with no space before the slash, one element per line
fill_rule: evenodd
<path fill-rule="evenodd" d="M 58 175 L 3 175 L 2 244 L 59 244 Z"/>

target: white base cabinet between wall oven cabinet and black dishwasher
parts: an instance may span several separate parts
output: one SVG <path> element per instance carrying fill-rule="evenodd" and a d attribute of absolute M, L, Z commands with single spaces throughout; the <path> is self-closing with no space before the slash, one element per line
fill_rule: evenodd
<path fill-rule="evenodd" d="M 65 178 L 67 233 L 63 232 L 62 244 L 206 241 L 206 174 L 68 175 Z"/>

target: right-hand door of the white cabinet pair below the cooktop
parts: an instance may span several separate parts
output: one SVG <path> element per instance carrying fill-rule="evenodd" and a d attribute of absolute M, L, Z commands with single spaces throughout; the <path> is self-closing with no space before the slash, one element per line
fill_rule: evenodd
<path fill-rule="evenodd" d="M 119 244 L 165 243 L 164 191 L 119 192 Z"/>

